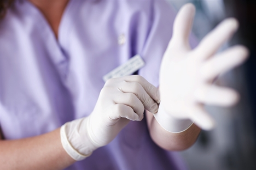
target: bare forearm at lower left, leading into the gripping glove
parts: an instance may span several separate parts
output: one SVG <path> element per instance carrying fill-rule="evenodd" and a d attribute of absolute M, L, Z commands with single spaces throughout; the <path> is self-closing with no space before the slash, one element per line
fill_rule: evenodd
<path fill-rule="evenodd" d="M 36 137 L 1 140 L 1 169 L 63 169 L 75 161 L 62 148 L 60 129 Z"/>

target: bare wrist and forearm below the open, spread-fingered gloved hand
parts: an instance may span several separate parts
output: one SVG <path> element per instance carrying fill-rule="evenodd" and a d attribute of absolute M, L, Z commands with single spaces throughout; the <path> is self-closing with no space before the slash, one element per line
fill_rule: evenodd
<path fill-rule="evenodd" d="M 171 133 L 159 125 L 152 113 L 146 111 L 146 114 L 150 136 L 159 147 L 166 150 L 177 151 L 189 148 L 195 143 L 196 138 L 201 131 L 199 127 L 193 124 L 184 132 Z"/>

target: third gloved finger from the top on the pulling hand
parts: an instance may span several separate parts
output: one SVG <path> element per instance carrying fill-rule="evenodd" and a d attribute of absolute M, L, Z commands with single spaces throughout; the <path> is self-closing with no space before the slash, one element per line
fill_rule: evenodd
<path fill-rule="evenodd" d="M 135 94 L 120 93 L 119 95 L 115 95 L 114 102 L 115 104 L 123 104 L 126 106 L 130 106 L 133 109 L 133 112 L 138 114 L 138 120 L 143 119 L 144 106 Z"/>

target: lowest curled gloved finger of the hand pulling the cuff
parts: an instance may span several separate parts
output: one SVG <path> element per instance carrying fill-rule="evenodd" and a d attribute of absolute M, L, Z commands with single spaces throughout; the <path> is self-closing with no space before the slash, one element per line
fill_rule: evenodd
<path fill-rule="evenodd" d="M 112 114 L 109 117 L 113 120 L 118 118 L 126 118 L 129 120 L 138 120 L 138 114 L 133 111 L 130 106 L 123 105 L 123 104 L 116 104 L 114 105 Z"/>

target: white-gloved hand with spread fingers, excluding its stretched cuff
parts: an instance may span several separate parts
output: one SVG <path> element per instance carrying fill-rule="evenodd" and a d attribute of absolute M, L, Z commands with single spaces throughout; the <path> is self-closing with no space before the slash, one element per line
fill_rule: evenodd
<path fill-rule="evenodd" d="M 194 5 L 185 4 L 174 21 L 173 37 L 160 68 L 160 107 L 173 118 L 190 119 L 210 130 L 214 120 L 203 110 L 203 104 L 230 106 L 238 100 L 235 90 L 213 86 L 212 82 L 220 73 L 243 63 L 248 51 L 240 45 L 215 54 L 237 30 L 235 19 L 221 22 L 191 50 L 189 34 L 194 15 Z"/>

